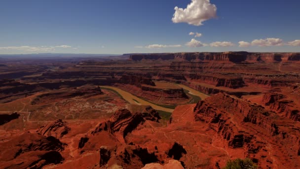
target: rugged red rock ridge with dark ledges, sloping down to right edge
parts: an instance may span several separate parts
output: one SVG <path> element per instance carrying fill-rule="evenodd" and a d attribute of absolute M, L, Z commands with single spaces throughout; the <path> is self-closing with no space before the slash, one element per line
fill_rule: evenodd
<path fill-rule="evenodd" d="M 266 103 L 272 102 L 272 99 L 265 98 Z M 273 151 L 276 151 L 278 158 L 279 153 L 283 153 L 283 157 L 286 154 L 293 157 L 299 155 L 300 132 L 290 128 L 294 126 L 292 122 L 288 122 L 276 113 L 268 112 L 262 106 L 252 105 L 234 96 L 219 93 L 205 101 L 200 101 L 194 108 L 194 117 L 196 121 L 213 127 L 227 142 L 228 147 L 245 148 L 247 156 L 256 159 L 261 165 L 274 165 L 274 161 L 272 163 L 269 163 L 270 160 L 265 161 L 266 155 L 263 155 L 270 144 L 276 147 Z M 286 149 L 286 146 L 293 148 Z M 294 163 L 293 159 L 287 161 Z"/>

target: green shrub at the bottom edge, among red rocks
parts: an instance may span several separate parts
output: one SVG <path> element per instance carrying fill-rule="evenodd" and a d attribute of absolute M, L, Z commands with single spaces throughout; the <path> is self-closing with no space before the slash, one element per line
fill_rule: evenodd
<path fill-rule="evenodd" d="M 257 169 L 257 165 L 250 159 L 229 160 L 223 169 Z"/>

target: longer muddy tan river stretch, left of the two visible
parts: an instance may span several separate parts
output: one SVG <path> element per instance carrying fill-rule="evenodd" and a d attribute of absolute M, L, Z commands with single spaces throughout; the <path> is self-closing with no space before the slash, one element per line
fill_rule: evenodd
<path fill-rule="evenodd" d="M 110 89 L 118 92 L 126 101 L 128 101 L 131 104 L 151 106 L 155 110 L 162 110 L 162 111 L 170 112 L 170 113 L 172 113 L 173 110 L 174 110 L 174 109 L 168 109 L 168 108 L 164 108 L 164 107 L 161 107 L 161 106 L 157 106 L 157 105 L 155 105 L 153 103 L 150 103 L 148 101 L 140 99 L 139 97 L 134 96 L 131 93 L 129 93 L 127 91 L 124 91 L 124 90 L 121 90 L 121 89 L 119 89 L 117 87 L 111 87 L 111 86 L 100 86 L 100 87 L 110 88 Z M 137 103 L 135 100 L 137 100 L 139 103 Z"/>

